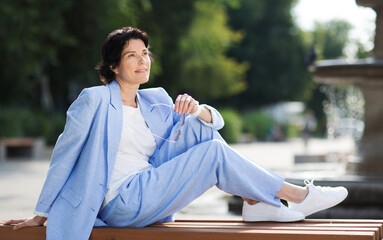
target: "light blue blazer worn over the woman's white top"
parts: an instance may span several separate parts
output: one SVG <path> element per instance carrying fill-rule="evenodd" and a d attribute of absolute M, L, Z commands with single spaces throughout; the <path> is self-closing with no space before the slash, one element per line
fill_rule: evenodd
<path fill-rule="evenodd" d="M 155 103 L 173 105 L 162 88 L 139 90 L 141 113 L 153 134 L 168 138 L 180 115 Z M 217 116 L 219 113 L 215 111 Z M 221 117 L 213 127 L 223 126 Z M 88 239 L 113 171 L 122 131 L 122 100 L 117 81 L 84 89 L 67 112 L 35 211 L 48 214 L 47 239 Z M 164 140 L 155 137 L 160 148 Z M 152 157 L 153 158 L 153 157 Z"/>

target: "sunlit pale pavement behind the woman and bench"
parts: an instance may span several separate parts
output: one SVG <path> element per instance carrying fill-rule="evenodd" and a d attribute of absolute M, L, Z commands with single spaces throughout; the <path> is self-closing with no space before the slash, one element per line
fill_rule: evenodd
<path fill-rule="evenodd" d="M 301 168 L 303 175 L 315 177 L 316 174 L 334 174 L 342 171 L 342 168 L 338 167 L 338 160 L 354 152 L 354 144 L 350 139 L 313 139 L 307 151 L 299 139 L 282 143 L 235 144 L 232 147 L 284 176 L 297 169 L 297 165 L 294 164 L 296 154 L 327 154 L 336 157 L 337 161 L 333 163 L 298 167 L 298 170 Z M 48 155 L 39 160 L 12 160 L 0 163 L 0 222 L 32 215 L 49 168 Z M 230 195 L 214 187 L 177 213 L 176 218 L 241 219 L 240 216 L 228 213 L 229 197 Z"/>

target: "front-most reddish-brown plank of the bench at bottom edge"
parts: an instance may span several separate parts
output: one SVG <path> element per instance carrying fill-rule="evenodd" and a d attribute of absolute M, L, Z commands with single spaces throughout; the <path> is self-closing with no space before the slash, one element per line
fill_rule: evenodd
<path fill-rule="evenodd" d="M 128 234 L 129 232 L 129 234 Z M 156 239 L 156 240 L 371 240 L 374 233 L 371 232 L 302 232 L 294 230 L 249 230 L 249 229 L 179 229 L 179 228 L 145 228 L 110 229 L 95 228 L 90 240 L 126 239 L 127 236 L 134 236 L 134 239 Z"/>

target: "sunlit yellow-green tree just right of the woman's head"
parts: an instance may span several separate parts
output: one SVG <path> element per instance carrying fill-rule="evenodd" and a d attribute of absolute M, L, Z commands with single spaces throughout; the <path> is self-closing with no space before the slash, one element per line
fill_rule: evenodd
<path fill-rule="evenodd" d="M 226 57 L 240 39 L 226 16 L 237 0 L 148 2 L 150 10 L 139 13 L 137 26 L 150 35 L 155 62 L 143 87 L 162 86 L 173 97 L 188 92 L 201 101 L 244 88 L 246 64 Z"/>

